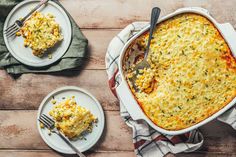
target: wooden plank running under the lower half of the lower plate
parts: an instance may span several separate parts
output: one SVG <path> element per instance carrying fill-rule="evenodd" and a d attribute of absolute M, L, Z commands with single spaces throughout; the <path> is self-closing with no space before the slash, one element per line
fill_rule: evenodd
<path fill-rule="evenodd" d="M 36 128 L 37 111 L 0 111 L 0 149 L 49 149 Z M 104 136 L 95 151 L 133 151 L 131 130 L 118 111 L 106 113 Z M 235 153 L 235 130 L 213 121 L 200 128 L 205 137 L 201 152 Z"/>

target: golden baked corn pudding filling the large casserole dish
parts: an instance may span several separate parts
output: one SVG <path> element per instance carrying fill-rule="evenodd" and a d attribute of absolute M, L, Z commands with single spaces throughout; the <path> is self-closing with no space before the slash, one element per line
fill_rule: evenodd
<path fill-rule="evenodd" d="M 157 126 L 190 127 L 235 98 L 236 60 L 207 18 L 185 13 L 158 24 L 147 59 L 151 66 L 139 71 L 135 90 L 130 78 L 147 41 L 148 32 L 130 45 L 123 70 L 137 102 Z"/>

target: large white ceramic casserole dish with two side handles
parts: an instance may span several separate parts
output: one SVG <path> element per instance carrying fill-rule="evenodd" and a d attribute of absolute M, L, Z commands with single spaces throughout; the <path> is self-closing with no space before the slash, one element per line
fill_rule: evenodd
<path fill-rule="evenodd" d="M 175 12 L 162 17 L 158 23 L 161 23 L 164 20 L 170 19 L 173 16 L 176 16 L 178 14 L 182 14 L 182 13 L 196 13 L 199 15 L 202 15 L 204 17 L 206 17 L 207 19 L 209 19 L 214 25 L 215 27 L 218 29 L 218 31 L 221 33 L 221 35 L 223 36 L 223 38 L 225 39 L 225 41 L 227 42 L 228 46 L 231 49 L 231 52 L 233 53 L 234 57 L 236 57 L 236 32 L 233 28 L 233 26 L 229 23 L 223 23 L 220 24 L 218 23 L 210 14 L 206 9 L 203 8 L 199 8 L 199 7 L 189 7 L 189 8 L 181 8 L 176 10 Z M 216 112 L 215 114 L 213 114 L 212 116 L 208 117 L 207 119 L 182 130 L 176 130 L 176 131 L 170 131 L 170 130 L 165 130 L 161 127 L 158 127 L 156 124 L 154 124 L 143 112 L 143 110 L 141 109 L 141 107 L 139 106 L 138 102 L 135 100 L 135 97 L 133 95 L 133 93 L 131 92 L 126 79 L 123 75 L 123 68 L 122 68 L 122 64 L 123 64 L 123 57 L 124 54 L 127 50 L 127 48 L 129 47 L 129 45 L 136 39 L 138 38 L 141 34 L 145 33 L 146 31 L 148 31 L 150 26 L 145 27 L 143 30 L 141 30 L 139 33 L 137 33 L 135 36 L 133 36 L 123 47 L 120 58 L 119 58 L 119 75 L 120 75 L 120 84 L 117 87 L 116 91 L 118 94 L 119 99 L 122 101 L 122 103 L 124 104 L 125 108 L 127 109 L 127 111 L 129 112 L 130 116 L 134 119 L 134 120 L 144 120 L 146 121 L 153 129 L 157 130 L 160 133 L 163 134 L 168 134 L 168 135 L 179 135 L 179 134 L 183 134 L 186 132 L 189 132 L 191 130 L 194 130 L 210 121 L 212 121 L 213 119 L 217 118 L 218 116 L 220 116 L 221 114 L 223 114 L 225 111 L 227 111 L 229 108 L 231 108 L 235 103 L 236 103 L 236 98 L 234 98 L 230 103 L 228 103 L 225 107 L 223 107 L 221 110 L 219 110 L 218 112 Z"/>

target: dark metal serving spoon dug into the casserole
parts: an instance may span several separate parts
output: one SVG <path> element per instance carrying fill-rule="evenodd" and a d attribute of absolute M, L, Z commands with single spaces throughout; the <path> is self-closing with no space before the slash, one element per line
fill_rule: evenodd
<path fill-rule="evenodd" d="M 130 79 L 130 81 L 132 82 L 133 87 L 136 91 L 138 91 L 138 88 L 135 85 L 135 81 L 137 79 L 137 75 L 139 74 L 139 70 L 144 69 L 144 68 L 150 68 L 150 64 L 147 61 L 147 57 L 148 57 L 148 53 L 149 53 L 149 49 L 150 49 L 152 35 L 153 35 L 153 32 L 154 32 L 154 29 L 156 28 L 156 23 L 157 23 L 157 20 L 160 16 L 160 13 L 161 13 L 160 8 L 154 7 L 152 9 L 151 21 L 150 21 L 150 32 L 149 32 L 147 47 L 146 47 L 146 50 L 144 52 L 144 58 L 141 62 L 139 62 L 137 65 L 135 65 L 134 70 L 136 71 L 136 74 Z"/>

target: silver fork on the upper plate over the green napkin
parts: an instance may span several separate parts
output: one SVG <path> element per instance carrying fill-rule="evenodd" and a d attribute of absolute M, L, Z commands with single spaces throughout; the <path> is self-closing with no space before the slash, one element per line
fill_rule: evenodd
<path fill-rule="evenodd" d="M 8 38 L 12 37 L 20 30 L 20 28 L 24 25 L 25 20 L 27 20 L 36 10 L 38 10 L 42 5 L 46 4 L 49 0 L 41 0 L 40 3 L 32 9 L 24 18 L 20 20 L 16 20 L 14 24 L 9 26 L 7 29 L 4 30 L 4 33 Z"/>

